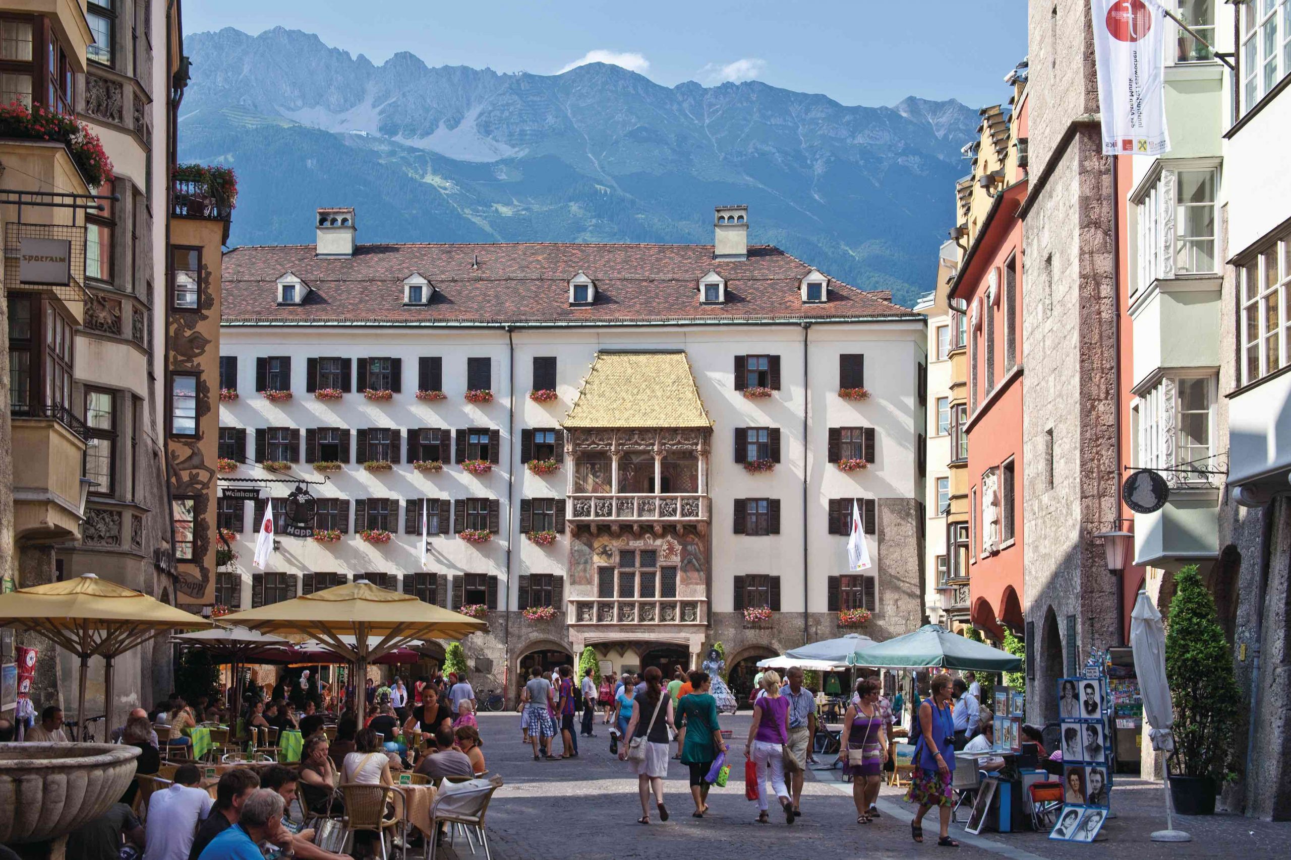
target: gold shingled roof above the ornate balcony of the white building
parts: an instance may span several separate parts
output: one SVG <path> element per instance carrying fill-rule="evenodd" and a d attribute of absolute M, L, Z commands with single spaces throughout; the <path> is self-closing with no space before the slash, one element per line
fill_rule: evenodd
<path fill-rule="evenodd" d="M 598 352 L 571 428 L 713 427 L 684 352 Z"/>

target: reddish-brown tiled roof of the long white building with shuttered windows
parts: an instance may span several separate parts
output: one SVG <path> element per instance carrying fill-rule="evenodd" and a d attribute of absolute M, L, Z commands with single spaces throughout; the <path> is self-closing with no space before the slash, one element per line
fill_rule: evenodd
<path fill-rule="evenodd" d="M 474 264 L 474 268 L 473 268 Z M 292 272 L 310 288 L 303 304 L 280 307 L 276 281 Z M 727 280 L 724 304 L 700 304 L 700 279 Z M 320 259 L 314 245 L 235 248 L 223 257 L 223 321 L 283 322 L 616 322 L 777 317 L 920 318 L 829 279 L 829 300 L 804 304 L 812 271 L 769 245 L 746 260 L 714 260 L 711 245 L 482 244 L 359 245 L 351 258 Z M 429 306 L 404 307 L 403 281 L 420 273 L 435 288 Z M 584 272 L 596 300 L 569 307 L 569 279 Z"/>

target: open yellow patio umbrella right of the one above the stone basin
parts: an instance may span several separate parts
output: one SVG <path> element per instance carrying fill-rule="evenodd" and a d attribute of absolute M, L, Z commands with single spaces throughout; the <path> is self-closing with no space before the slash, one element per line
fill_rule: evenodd
<path fill-rule="evenodd" d="M 460 640 L 488 627 L 479 619 L 412 594 L 377 588 L 363 579 L 219 620 L 261 633 L 303 633 L 323 642 L 355 664 L 355 699 L 371 660 L 417 640 Z"/>

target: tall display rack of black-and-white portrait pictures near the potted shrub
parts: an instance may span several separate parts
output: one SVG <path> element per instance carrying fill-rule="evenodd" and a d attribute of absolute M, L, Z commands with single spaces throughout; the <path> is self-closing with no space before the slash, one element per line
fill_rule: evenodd
<path fill-rule="evenodd" d="M 1105 665 L 1091 660 L 1083 677 L 1057 682 L 1064 802 L 1051 839 L 1093 842 L 1110 808 L 1114 735 L 1108 735 Z"/>

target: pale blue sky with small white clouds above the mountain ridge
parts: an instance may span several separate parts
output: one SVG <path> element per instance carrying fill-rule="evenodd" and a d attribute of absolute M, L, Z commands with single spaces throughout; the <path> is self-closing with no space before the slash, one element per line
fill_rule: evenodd
<path fill-rule="evenodd" d="M 593 58 L 667 86 L 757 79 L 869 106 L 906 95 L 995 104 L 1008 98 L 1003 76 L 1026 54 L 1025 0 L 183 4 L 186 32 L 236 27 L 258 34 L 275 26 L 318 34 L 376 63 L 408 50 L 429 66 L 550 75 Z"/>

